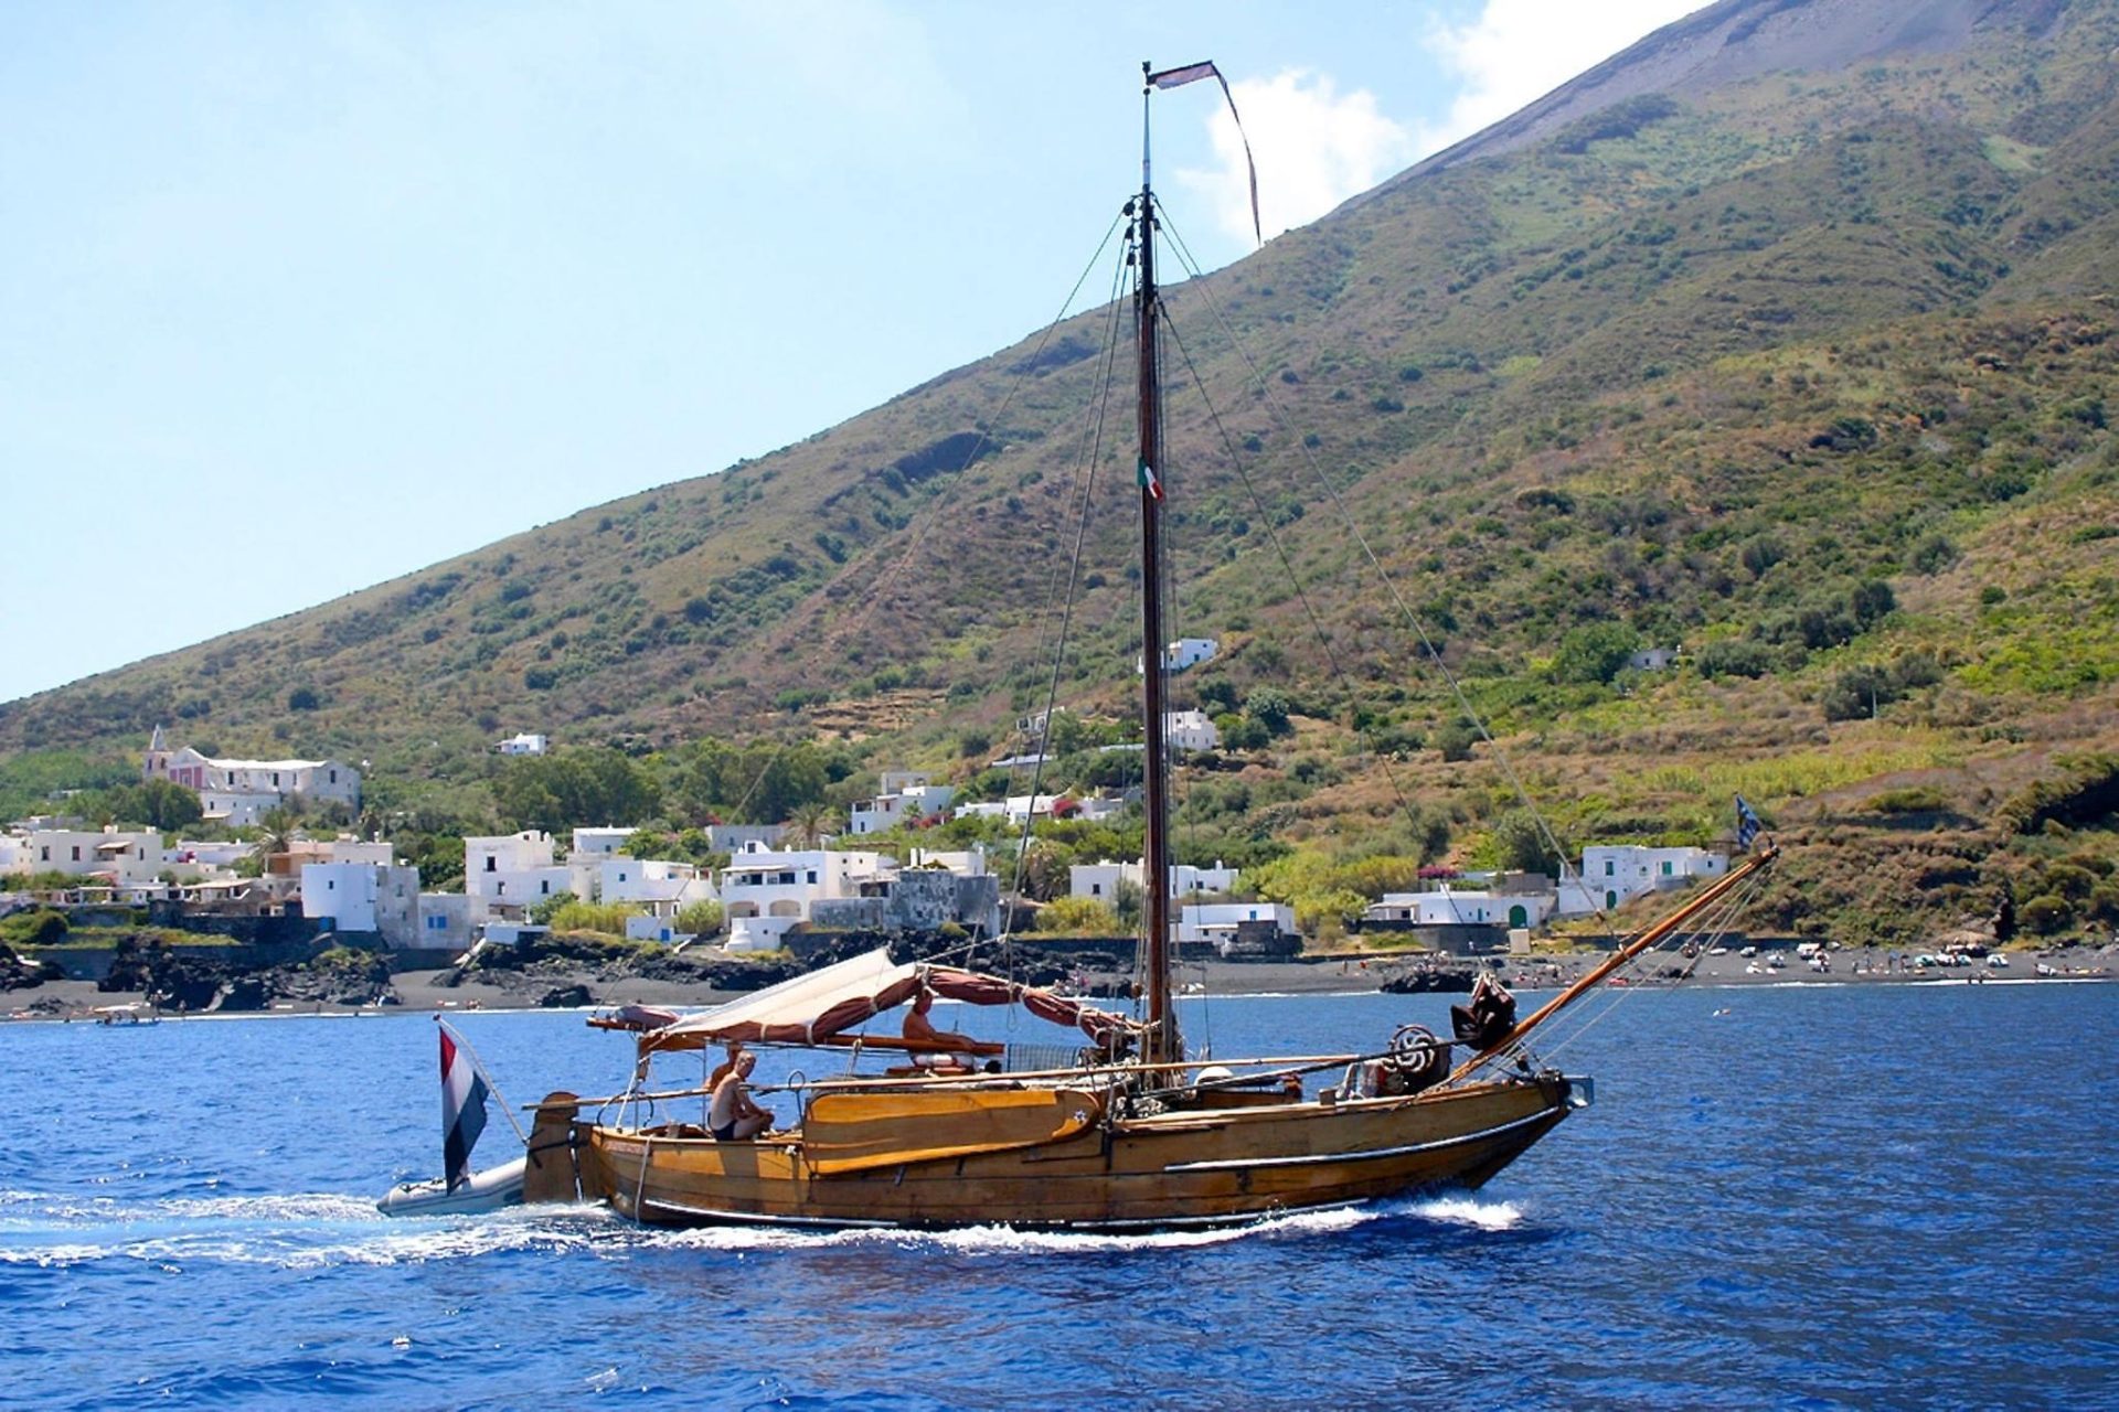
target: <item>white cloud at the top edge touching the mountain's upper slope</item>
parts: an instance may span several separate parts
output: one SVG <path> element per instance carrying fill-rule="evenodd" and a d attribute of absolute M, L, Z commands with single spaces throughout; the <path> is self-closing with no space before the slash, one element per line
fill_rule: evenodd
<path fill-rule="evenodd" d="M 1462 87 L 1447 116 L 1422 125 L 1435 152 L 1596 68 L 1634 40 L 1691 15 L 1702 0 L 1485 0 L 1466 25 L 1437 25 L 1430 42 Z"/>

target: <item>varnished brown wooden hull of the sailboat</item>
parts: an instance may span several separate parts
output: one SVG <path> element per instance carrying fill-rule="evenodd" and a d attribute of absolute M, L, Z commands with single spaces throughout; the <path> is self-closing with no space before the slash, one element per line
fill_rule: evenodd
<path fill-rule="evenodd" d="M 1096 1094 L 1076 1094 L 1098 1107 Z M 1560 1124 L 1581 1094 L 1562 1075 L 1405 1099 L 1274 1103 L 1079 1122 L 1049 1141 L 845 1171 L 784 1141 L 576 1126 L 585 1196 L 651 1226 L 1229 1226 L 1458 1185 L 1477 1188 Z"/>

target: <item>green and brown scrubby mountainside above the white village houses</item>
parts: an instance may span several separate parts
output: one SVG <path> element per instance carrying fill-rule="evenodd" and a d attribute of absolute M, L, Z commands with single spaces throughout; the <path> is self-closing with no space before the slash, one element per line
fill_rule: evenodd
<path fill-rule="evenodd" d="M 1839 68 L 1763 49 L 1803 6 L 1710 17 L 1678 38 L 1742 64 L 1663 91 L 1615 74 L 1678 72 L 1678 40 L 1621 57 L 1509 144 L 1168 290 L 1212 404 L 1170 409 L 1178 631 L 1231 648 L 1182 694 L 1293 726 L 1195 771 L 1180 847 L 1271 862 L 1326 921 L 1432 853 L 1521 857 L 1426 633 L 1570 851 L 1710 836 L 1744 792 L 1799 845 L 1761 921 L 1905 938 L 2007 883 L 2055 900 L 2038 925 L 2111 925 L 2119 4 Z M 521 817 L 487 754 L 517 728 L 646 760 L 670 830 L 754 804 L 684 788 L 706 737 L 839 741 L 839 796 L 890 764 L 968 781 L 1043 703 L 1106 322 L 0 707 L 0 802 L 110 783 L 157 722 L 371 760 L 381 821 L 437 828 Z M 1108 440 L 1060 680 L 1121 722 Z M 1685 656 L 1615 669 L 1646 646 Z M 2041 788 L 2087 802 L 2026 813 Z"/>

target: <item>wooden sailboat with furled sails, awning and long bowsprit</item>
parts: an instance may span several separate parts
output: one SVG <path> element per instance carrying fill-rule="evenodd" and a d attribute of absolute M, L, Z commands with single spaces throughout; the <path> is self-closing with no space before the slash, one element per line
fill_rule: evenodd
<path fill-rule="evenodd" d="M 1148 91 L 1212 74 L 1148 74 Z M 1161 387 L 1155 286 L 1157 205 L 1142 155 L 1134 222 L 1140 419 L 1142 641 L 1165 641 L 1161 582 Z M 1216 1226 L 1337 1207 L 1439 1185 L 1477 1188 L 1589 1101 L 1589 1082 L 1536 1065 L 1524 1042 L 1553 1014 L 1689 917 L 1725 900 L 1771 853 L 1704 889 L 1672 919 L 1528 1020 L 1481 982 L 1458 1033 L 1403 1027 L 1365 1054 L 1187 1061 L 1172 1003 L 1170 800 L 1163 673 L 1142 675 L 1146 830 L 1142 849 L 1144 976 L 1140 1018 L 992 976 L 896 965 L 871 953 L 676 1018 L 636 1014 L 606 1027 L 638 1033 L 636 1082 L 610 1099 L 551 1094 L 530 1137 L 528 1200 L 604 1200 L 657 1226 L 968 1226 L 1068 1230 Z M 1002 1046 L 962 1037 L 854 1031 L 920 993 L 1015 1003 L 1076 1035 L 1072 1063 L 1009 1065 Z M 926 1061 L 882 1078 L 786 1086 L 790 1122 L 754 1139 L 716 1141 L 687 1122 L 642 1118 L 655 1103 L 648 1058 L 712 1044 L 801 1044 Z M 1462 1063 L 1452 1067 L 1454 1056 Z M 1341 1082 L 1310 1094 L 1305 1075 Z M 667 1109 L 653 1109 L 667 1111 Z"/>

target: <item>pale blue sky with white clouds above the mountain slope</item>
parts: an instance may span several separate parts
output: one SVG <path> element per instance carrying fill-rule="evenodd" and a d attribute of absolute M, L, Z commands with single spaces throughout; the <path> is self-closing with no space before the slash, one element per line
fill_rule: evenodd
<path fill-rule="evenodd" d="M 1032 334 L 1214 59 L 1265 237 L 1693 0 L 0 0 L 0 701 L 723 470 Z M 1155 99 L 1210 269 L 1212 85 Z M 1185 212 L 1185 216 L 1178 216 Z"/>

